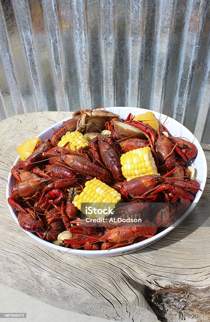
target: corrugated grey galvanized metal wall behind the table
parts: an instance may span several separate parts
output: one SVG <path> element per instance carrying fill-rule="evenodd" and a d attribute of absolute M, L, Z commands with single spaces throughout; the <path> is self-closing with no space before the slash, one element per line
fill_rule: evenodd
<path fill-rule="evenodd" d="M 0 118 L 160 111 L 210 143 L 208 0 L 1 0 Z"/>

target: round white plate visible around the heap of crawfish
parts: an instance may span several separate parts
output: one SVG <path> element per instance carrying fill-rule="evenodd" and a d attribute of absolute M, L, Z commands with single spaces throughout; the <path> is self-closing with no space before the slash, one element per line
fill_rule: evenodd
<path fill-rule="evenodd" d="M 145 113 L 147 110 L 146 109 L 138 109 L 138 108 L 133 108 L 133 107 L 110 107 L 106 108 L 106 110 L 114 112 L 116 114 L 119 114 L 123 118 L 127 118 L 127 115 L 129 113 L 132 113 L 133 115 L 138 115 L 141 113 Z M 154 116 L 159 119 L 160 113 L 152 111 Z M 37 137 L 40 137 L 40 139 L 43 141 L 46 137 L 50 137 L 53 134 L 52 128 L 57 129 L 63 121 L 66 121 L 69 118 L 66 118 L 64 120 L 61 120 L 60 122 L 54 124 L 53 126 L 47 128 L 45 131 L 40 133 Z M 164 120 L 166 119 L 166 116 L 164 114 L 161 115 L 161 122 L 163 123 Z M 200 146 L 199 142 L 197 139 L 194 137 L 194 135 L 183 125 L 181 125 L 179 122 L 176 120 L 168 117 L 166 120 L 166 123 L 164 124 L 166 128 L 169 130 L 171 135 L 177 136 L 177 137 L 185 137 L 187 138 L 190 142 L 193 142 L 196 147 L 197 147 L 197 156 L 195 159 L 190 161 L 190 164 L 196 169 L 196 179 L 199 180 L 200 182 L 200 188 L 202 191 L 204 190 L 205 184 L 206 184 L 206 177 L 207 177 L 207 164 L 206 164 L 206 157 L 204 155 L 204 151 L 202 147 Z M 19 157 L 14 162 L 14 166 L 18 163 Z M 11 172 L 9 173 L 8 179 L 7 179 L 7 185 L 6 185 L 6 198 L 10 197 L 10 190 L 14 185 L 14 180 Z M 202 195 L 202 191 L 198 191 L 196 194 L 195 199 L 191 203 L 191 206 L 187 210 L 187 212 L 172 226 L 169 228 L 165 229 L 164 231 L 156 234 L 155 236 L 146 239 L 142 242 L 138 242 L 133 245 L 121 247 L 121 248 L 116 248 L 116 249 L 111 249 L 111 250 L 102 250 L 102 251 L 84 251 L 84 250 L 79 250 L 79 249 L 70 249 L 70 248 L 65 248 L 61 246 L 54 245 L 50 242 L 46 242 L 45 240 L 39 238 L 35 234 L 31 232 L 26 232 L 30 237 L 35 239 L 37 242 L 41 243 L 42 245 L 50 248 L 55 248 L 59 251 L 66 252 L 66 254 L 76 254 L 76 255 L 82 255 L 82 256 L 87 256 L 87 257 L 109 257 L 109 256 L 118 256 L 122 254 L 127 254 L 131 253 L 133 251 L 137 251 L 139 249 L 142 249 L 148 245 L 151 245 L 153 242 L 156 242 L 157 240 L 161 239 L 163 236 L 168 234 L 172 229 L 174 229 L 176 226 L 179 225 L 188 215 L 191 213 L 191 211 L 194 209 L 196 206 L 198 200 L 200 199 Z M 9 210 L 13 215 L 14 220 L 18 223 L 17 220 L 17 212 L 15 212 L 10 205 L 8 204 Z M 22 229 L 22 228 L 21 228 Z"/>

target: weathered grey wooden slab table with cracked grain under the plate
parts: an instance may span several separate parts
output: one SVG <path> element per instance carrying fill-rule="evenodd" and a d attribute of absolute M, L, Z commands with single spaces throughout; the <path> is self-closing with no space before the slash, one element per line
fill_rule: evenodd
<path fill-rule="evenodd" d="M 186 219 L 195 226 L 183 223 L 132 254 L 96 259 L 59 257 L 61 252 L 35 242 L 14 221 L 5 185 L 15 148 L 71 114 L 30 113 L 0 123 L 0 282 L 55 307 L 116 321 L 209 322 L 210 234 L 204 206 Z M 202 147 L 209 166 L 210 146 Z M 209 196 L 208 171 L 202 201 Z"/>

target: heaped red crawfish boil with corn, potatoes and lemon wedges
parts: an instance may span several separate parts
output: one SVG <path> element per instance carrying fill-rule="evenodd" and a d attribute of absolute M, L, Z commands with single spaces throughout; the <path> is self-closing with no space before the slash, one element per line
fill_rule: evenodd
<path fill-rule="evenodd" d="M 8 204 L 19 225 L 71 249 L 109 250 L 148 239 L 176 222 L 201 190 L 188 166 L 196 146 L 173 137 L 151 112 L 122 119 L 102 108 L 77 111 L 51 137 L 29 139 L 17 151 Z M 106 224 L 88 224 L 82 203 L 112 204 L 121 221 L 138 224 L 116 225 L 104 213 L 86 217 L 106 217 Z M 150 203 L 157 205 L 152 212 Z"/>

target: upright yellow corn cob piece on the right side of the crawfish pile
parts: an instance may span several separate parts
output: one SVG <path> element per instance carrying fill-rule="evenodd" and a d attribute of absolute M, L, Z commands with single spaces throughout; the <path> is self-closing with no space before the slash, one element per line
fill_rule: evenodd
<path fill-rule="evenodd" d="M 120 157 L 120 163 L 127 181 L 143 175 L 159 175 L 150 147 L 128 151 Z"/>

